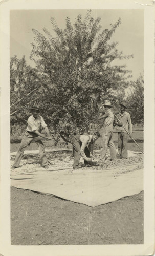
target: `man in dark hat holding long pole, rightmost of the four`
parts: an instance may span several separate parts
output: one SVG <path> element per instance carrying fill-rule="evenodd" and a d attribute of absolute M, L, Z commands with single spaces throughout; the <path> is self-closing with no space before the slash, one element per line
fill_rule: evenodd
<path fill-rule="evenodd" d="M 127 132 L 132 134 L 132 123 L 130 114 L 126 112 L 127 106 L 125 103 L 120 103 L 120 113 L 118 114 L 118 118 L 120 122 L 117 122 L 117 132 L 118 132 L 118 152 L 120 158 L 127 158 Z M 123 128 L 123 126 L 127 130 Z"/>

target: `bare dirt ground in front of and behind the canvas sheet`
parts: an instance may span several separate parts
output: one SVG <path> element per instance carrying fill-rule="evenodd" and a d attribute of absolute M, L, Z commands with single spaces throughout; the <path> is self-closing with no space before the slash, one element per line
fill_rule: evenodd
<path fill-rule="evenodd" d="M 11 144 L 11 152 L 18 146 Z M 31 143 L 27 150 L 36 148 Z M 90 207 L 11 187 L 12 245 L 143 244 L 143 218 L 143 192 Z"/>

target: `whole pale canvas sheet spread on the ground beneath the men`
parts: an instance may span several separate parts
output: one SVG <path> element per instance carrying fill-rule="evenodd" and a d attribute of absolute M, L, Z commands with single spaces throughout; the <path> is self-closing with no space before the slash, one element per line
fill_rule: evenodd
<path fill-rule="evenodd" d="M 40 167 L 39 155 L 34 153 L 37 151 L 25 154 L 21 167 L 11 171 L 11 186 L 52 194 L 92 207 L 143 190 L 142 154 L 129 151 L 129 158 L 125 161 L 107 160 L 103 168 L 81 167 L 72 172 L 71 151 L 48 151 L 50 169 Z M 99 153 L 95 151 L 95 156 L 99 157 Z M 11 154 L 11 162 L 14 157 L 15 154 Z"/>

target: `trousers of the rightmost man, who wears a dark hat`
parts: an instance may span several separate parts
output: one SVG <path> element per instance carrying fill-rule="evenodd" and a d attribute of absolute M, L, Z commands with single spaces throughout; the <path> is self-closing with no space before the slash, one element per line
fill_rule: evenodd
<path fill-rule="evenodd" d="M 127 158 L 127 133 L 118 133 L 118 152 L 121 158 Z"/>

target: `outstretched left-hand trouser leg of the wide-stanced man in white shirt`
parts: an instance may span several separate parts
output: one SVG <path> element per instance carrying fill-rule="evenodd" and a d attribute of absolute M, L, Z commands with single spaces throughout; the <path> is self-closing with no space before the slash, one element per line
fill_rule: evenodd
<path fill-rule="evenodd" d="M 26 135 L 23 136 L 23 139 L 21 140 L 19 149 L 17 151 L 13 166 L 18 168 L 21 158 L 23 156 L 24 150 L 25 148 L 31 143 L 31 141 L 33 140 L 33 138 L 28 138 Z"/>

